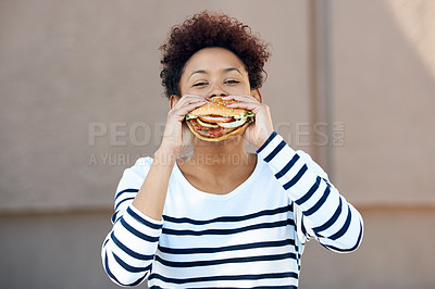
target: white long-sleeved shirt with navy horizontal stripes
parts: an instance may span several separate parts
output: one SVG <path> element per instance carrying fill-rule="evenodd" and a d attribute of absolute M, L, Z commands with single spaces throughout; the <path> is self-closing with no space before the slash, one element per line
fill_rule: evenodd
<path fill-rule="evenodd" d="M 257 153 L 253 173 L 226 194 L 198 190 L 175 165 L 161 221 L 132 204 L 152 159 L 127 168 L 101 250 L 109 277 L 150 288 L 297 288 L 308 239 L 358 248 L 361 215 L 307 153 L 276 133 Z"/>

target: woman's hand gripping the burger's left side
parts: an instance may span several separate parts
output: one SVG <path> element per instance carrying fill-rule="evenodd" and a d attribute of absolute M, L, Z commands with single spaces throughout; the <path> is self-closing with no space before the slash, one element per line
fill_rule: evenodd
<path fill-rule="evenodd" d="M 167 113 L 160 152 L 177 158 L 191 142 L 191 134 L 186 123 L 186 114 L 207 103 L 203 97 L 185 95 L 171 97 L 171 110 Z"/>

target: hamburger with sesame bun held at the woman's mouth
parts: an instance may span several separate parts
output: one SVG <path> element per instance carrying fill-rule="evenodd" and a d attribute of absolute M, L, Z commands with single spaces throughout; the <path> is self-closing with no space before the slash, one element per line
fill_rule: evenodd
<path fill-rule="evenodd" d="M 256 115 L 251 111 L 226 106 L 235 102 L 213 97 L 210 102 L 186 115 L 187 126 L 195 136 L 207 141 L 221 141 L 241 135 Z"/>

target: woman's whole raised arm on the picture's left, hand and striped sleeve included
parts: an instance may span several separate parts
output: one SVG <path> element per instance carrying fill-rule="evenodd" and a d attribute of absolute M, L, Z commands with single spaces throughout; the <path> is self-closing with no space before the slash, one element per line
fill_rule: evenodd
<path fill-rule="evenodd" d="M 171 172 L 189 141 L 185 115 L 204 99 L 186 96 L 167 114 L 162 143 L 145 166 L 125 171 L 115 197 L 112 230 L 101 250 L 109 277 L 122 286 L 136 286 L 148 277 L 163 226 L 162 214 Z M 145 159 L 147 160 L 147 159 Z M 145 175 L 144 175 L 145 174 Z"/>

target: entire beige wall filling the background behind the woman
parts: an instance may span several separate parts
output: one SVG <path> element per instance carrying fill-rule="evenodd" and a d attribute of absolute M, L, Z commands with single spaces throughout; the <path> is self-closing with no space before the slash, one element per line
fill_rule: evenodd
<path fill-rule="evenodd" d="M 276 129 L 364 216 L 356 253 L 309 242 L 300 288 L 433 288 L 431 0 L 0 1 L 0 288 L 114 288 L 99 247 L 123 169 L 160 142 L 158 47 L 203 9 L 272 45 Z"/>

